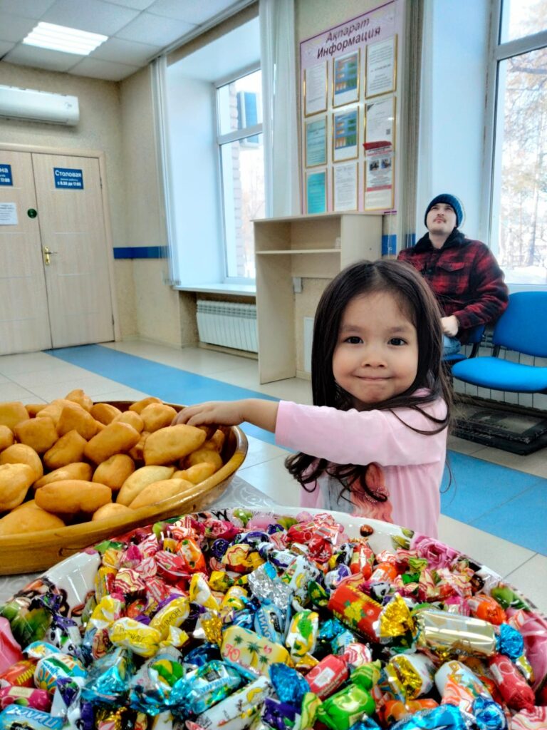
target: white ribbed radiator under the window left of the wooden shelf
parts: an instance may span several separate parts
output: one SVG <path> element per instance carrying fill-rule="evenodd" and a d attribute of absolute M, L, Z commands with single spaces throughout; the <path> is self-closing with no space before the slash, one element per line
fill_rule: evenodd
<path fill-rule="evenodd" d="M 209 345 L 257 353 L 257 307 L 198 299 L 198 333 L 200 341 Z"/>

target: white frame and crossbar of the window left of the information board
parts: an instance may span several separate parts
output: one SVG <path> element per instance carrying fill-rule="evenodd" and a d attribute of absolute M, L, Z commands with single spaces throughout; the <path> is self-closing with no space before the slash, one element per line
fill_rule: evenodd
<path fill-rule="evenodd" d="M 217 79 L 214 82 L 214 116 L 217 127 L 217 171 L 218 171 L 218 196 L 220 201 L 221 219 L 222 219 L 222 261 L 224 264 L 224 283 L 229 284 L 252 284 L 255 285 L 256 277 L 233 277 L 228 275 L 228 242 L 226 239 L 226 206 L 224 197 L 224 173 L 222 170 L 222 145 L 228 145 L 231 142 L 238 142 L 241 139 L 247 139 L 247 137 L 253 137 L 255 134 L 263 134 L 263 122 L 260 124 L 254 124 L 250 127 L 243 129 L 235 129 L 225 134 L 220 134 L 220 108 L 219 108 L 219 94 L 218 91 L 223 86 L 230 83 L 236 82 L 250 74 L 254 74 L 261 70 L 260 62 L 244 66 L 243 69 L 239 69 L 237 72 L 230 74 L 227 77 Z"/>

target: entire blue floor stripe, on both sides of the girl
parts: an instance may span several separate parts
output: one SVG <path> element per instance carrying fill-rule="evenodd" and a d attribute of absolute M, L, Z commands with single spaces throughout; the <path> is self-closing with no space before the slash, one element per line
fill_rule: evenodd
<path fill-rule="evenodd" d="M 193 405 L 202 401 L 241 398 L 278 400 L 264 393 L 101 345 L 63 347 L 45 352 L 171 403 Z M 268 431 L 249 423 L 243 424 L 242 428 L 249 436 L 275 443 L 274 434 Z M 547 555 L 544 529 L 547 506 L 543 499 L 547 492 L 547 479 L 456 452 L 449 452 L 449 461 L 452 483 L 448 488 L 446 470 L 441 497 L 443 515 Z"/>

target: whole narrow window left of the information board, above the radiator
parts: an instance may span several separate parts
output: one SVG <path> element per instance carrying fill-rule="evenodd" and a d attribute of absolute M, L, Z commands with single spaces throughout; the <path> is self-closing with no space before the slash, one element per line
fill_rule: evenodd
<path fill-rule="evenodd" d="M 261 82 L 259 70 L 217 85 L 228 280 L 255 278 L 252 220 L 265 214 Z"/>

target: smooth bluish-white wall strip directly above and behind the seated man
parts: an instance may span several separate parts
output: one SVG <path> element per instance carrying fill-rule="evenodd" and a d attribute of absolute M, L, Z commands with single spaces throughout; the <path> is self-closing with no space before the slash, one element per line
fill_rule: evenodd
<path fill-rule="evenodd" d="M 462 231 L 486 241 L 481 207 L 488 61 L 488 0 L 424 0 L 416 239 L 438 193 L 465 207 Z"/>

